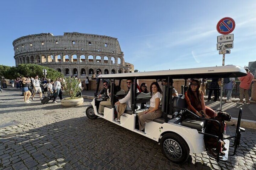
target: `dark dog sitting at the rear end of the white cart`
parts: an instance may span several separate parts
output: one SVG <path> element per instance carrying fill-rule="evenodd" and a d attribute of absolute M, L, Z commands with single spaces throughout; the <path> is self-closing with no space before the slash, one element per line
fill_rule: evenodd
<path fill-rule="evenodd" d="M 230 121 L 231 116 L 229 115 L 229 113 L 219 112 L 218 115 L 213 119 L 217 120 L 220 123 L 221 147 L 222 147 L 223 150 L 226 150 L 225 143 L 223 141 L 223 134 L 224 134 L 224 128 L 225 128 L 224 121 Z M 208 134 L 218 136 L 219 135 L 219 125 L 218 125 L 218 123 L 214 122 L 214 121 L 209 121 L 205 132 L 208 133 Z M 210 137 L 210 136 L 207 136 L 207 135 L 204 136 L 205 146 L 209 150 L 212 150 L 213 148 L 217 148 L 217 142 L 218 142 L 217 138 L 213 138 L 213 137 Z M 221 153 L 221 155 L 225 155 L 225 153 L 223 153 L 221 151 L 219 151 L 219 152 Z"/>

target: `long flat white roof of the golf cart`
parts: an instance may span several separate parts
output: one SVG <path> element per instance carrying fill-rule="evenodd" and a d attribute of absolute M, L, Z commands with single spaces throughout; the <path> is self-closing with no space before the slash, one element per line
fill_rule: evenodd
<path fill-rule="evenodd" d="M 215 66 L 190 69 L 161 70 L 137 73 L 101 74 L 98 77 L 104 79 L 126 79 L 137 77 L 137 79 L 165 79 L 171 76 L 172 79 L 193 79 L 193 78 L 227 78 L 243 77 L 247 73 L 240 66 Z"/>

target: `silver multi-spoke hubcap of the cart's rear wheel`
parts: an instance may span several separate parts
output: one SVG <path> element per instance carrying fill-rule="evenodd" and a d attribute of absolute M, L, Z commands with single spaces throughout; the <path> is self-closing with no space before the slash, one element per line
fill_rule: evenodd
<path fill-rule="evenodd" d="M 182 155 L 181 146 L 173 139 L 166 139 L 164 141 L 164 151 L 172 159 L 179 159 Z"/>

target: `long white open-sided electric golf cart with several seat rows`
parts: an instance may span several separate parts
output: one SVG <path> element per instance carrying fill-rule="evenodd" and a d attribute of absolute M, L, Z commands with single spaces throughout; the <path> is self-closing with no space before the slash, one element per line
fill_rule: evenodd
<path fill-rule="evenodd" d="M 160 142 L 162 152 L 165 156 L 175 162 L 183 163 L 187 160 L 189 153 L 201 153 L 205 150 L 204 135 L 208 135 L 218 139 L 217 149 L 220 147 L 220 123 L 216 120 L 219 125 L 219 135 L 206 134 L 205 129 L 207 122 L 210 119 L 202 118 L 196 114 L 190 112 L 187 109 L 187 104 L 183 94 L 179 94 L 177 97 L 171 95 L 172 86 L 169 82 L 171 79 L 184 79 L 184 89 L 187 89 L 187 79 L 189 78 L 227 78 L 227 77 L 242 77 L 246 76 L 247 73 L 244 68 L 240 66 L 216 66 L 216 67 L 204 67 L 204 68 L 192 68 L 192 69 L 180 69 L 180 70 L 163 70 L 163 71 L 150 71 L 150 72 L 139 72 L 139 73 L 122 73 L 122 74 L 105 74 L 100 75 L 99 79 L 109 79 L 111 85 L 111 104 L 112 106 L 104 107 L 104 114 L 98 113 L 99 103 L 103 100 L 103 97 L 98 99 L 99 85 L 97 85 L 95 98 L 91 102 L 92 106 L 86 110 L 86 115 L 89 119 L 96 119 L 97 117 L 104 118 L 110 122 L 122 126 L 123 128 L 129 129 L 135 133 L 141 134 L 154 141 Z M 162 93 L 162 117 L 154 119 L 152 122 L 146 123 L 145 131 L 139 131 L 138 116 L 139 112 L 143 112 L 145 109 L 145 102 L 149 102 L 151 95 L 144 93 L 137 93 L 137 89 L 134 85 L 131 85 L 131 107 L 132 111 L 125 111 L 120 117 L 120 122 L 114 120 L 114 102 L 117 99 L 125 97 L 125 91 L 120 90 L 121 80 L 133 79 L 134 82 L 140 79 L 166 79 L 168 80 L 167 85 L 163 86 Z M 100 82 L 100 81 L 98 81 Z M 117 85 L 115 83 L 118 83 Z M 142 83 L 142 82 L 140 82 Z M 118 91 L 117 91 L 118 89 Z M 182 93 L 183 93 L 182 92 Z M 144 106 L 143 106 L 144 105 Z M 221 111 L 221 110 L 217 110 Z M 194 115 L 195 119 L 185 119 L 181 121 L 182 113 L 187 112 Z M 236 134 L 229 138 L 224 138 L 226 143 L 225 156 L 220 156 L 219 152 L 216 153 L 216 160 L 226 161 L 229 155 L 229 140 L 234 138 L 234 153 L 239 147 L 241 131 L 245 131 L 240 128 L 242 109 L 239 110 L 238 123 L 236 128 Z M 223 134 L 222 134 L 223 135 Z M 220 149 L 220 148 L 219 148 Z"/>

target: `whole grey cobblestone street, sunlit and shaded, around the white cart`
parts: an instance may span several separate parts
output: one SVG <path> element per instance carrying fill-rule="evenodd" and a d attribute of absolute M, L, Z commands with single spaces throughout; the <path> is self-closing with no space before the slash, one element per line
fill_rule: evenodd
<path fill-rule="evenodd" d="M 104 119 L 85 115 L 83 105 L 62 107 L 41 104 L 38 95 L 30 104 L 18 91 L 0 93 L 0 169 L 255 169 L 256 130 L 246 129 L 236 156 L 216 162 L 190 154 L 178 165 L 162 154 L 157 142 Z M 227 128 L 227 134 L 235 126 Z"/>

